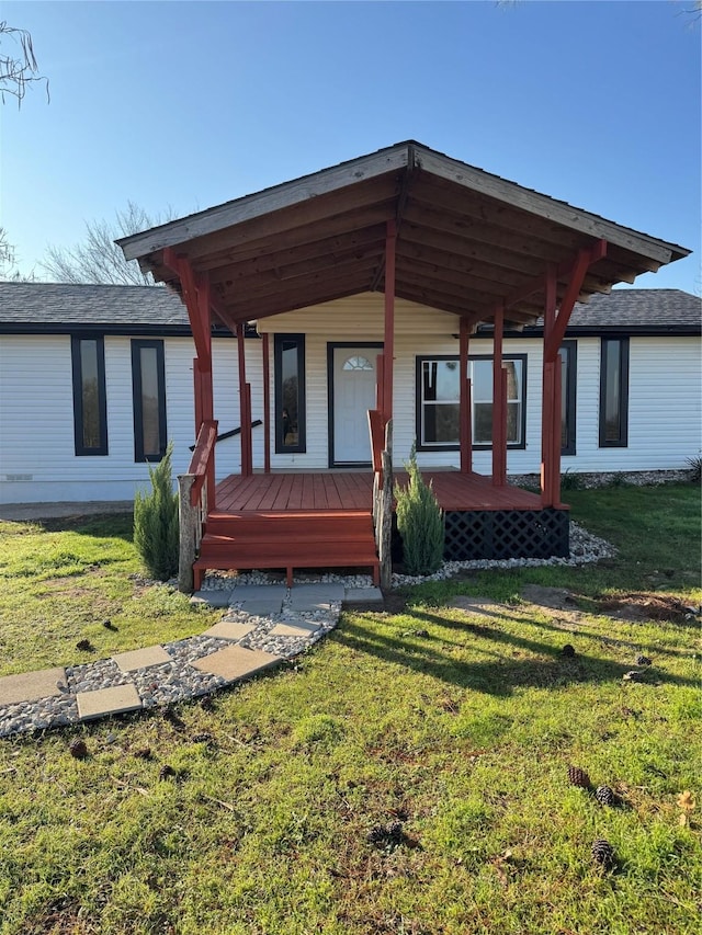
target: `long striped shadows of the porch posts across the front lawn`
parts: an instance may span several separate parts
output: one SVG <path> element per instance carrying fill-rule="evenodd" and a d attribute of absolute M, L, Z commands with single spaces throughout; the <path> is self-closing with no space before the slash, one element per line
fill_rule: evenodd
<path fill-rule="evenodd" d="M 489 641 L 487 645 L 476 645 L 473 649 L 490 658 L 464 662 L 453 654 L 464 643 L 448 643 L 441 637 L 420 637 L 411 631 L 405 636 L 384 636 L 349 618 L 335 630 L 331 639 L 384 662 L 421 672 L 451 685 L 501 697 L 511 695 L 518 687 L 556 688 L 582 682 L 622 683 L 622 676 L 632 668 L 631 664 L 591 655 L 578 654 L 574 659 L 566 659 L 558 649 L 547 643 L 491 627 L 460 624 L 423 612 L 409 612 L 406 616 L 415 618 L 418 624 L 439 625 L 449 630 L 462 629 L 480 640 Z M 490 642 L 495 646 L 491 647 Z M 522 653 L 529 653 L 531 658 L 520 658 Z M 693 679 L 655 670 L 643 673 L 642 684 L 637 687 L 645 687 L 646 684 L 692 686 L 697 683 Z"/>

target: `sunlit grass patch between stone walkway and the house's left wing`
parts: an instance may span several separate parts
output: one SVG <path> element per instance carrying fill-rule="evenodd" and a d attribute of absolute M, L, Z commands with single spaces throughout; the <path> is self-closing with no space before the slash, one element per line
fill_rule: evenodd
<path fill-rule="evenodd" d="M 0 675 L 103 659 L 219 619 L 165 585 L 144 586 L 131 514 L 0 521 Z M 77 650 L 83 639 L 94 650 Z"/>

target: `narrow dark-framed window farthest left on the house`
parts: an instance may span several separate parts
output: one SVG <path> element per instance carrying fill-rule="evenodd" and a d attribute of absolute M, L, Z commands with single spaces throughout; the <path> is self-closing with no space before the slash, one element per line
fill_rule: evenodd
<path fill-rule="evenodd" d="M 102 338 L 70 339 L 76 455 L 107 454 L 105 347 Z"/>

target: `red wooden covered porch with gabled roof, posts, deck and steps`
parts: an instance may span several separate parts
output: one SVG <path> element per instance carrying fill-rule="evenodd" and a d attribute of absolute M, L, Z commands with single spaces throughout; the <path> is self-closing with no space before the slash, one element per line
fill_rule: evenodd
<path fill-rule="evenodd" d="M 403 427 L 398 412 L 403 406 L 405 413 L 409 411 L 406 400 L 410 391 L 398 380 L 403 335 L 397 299 L 420 308 L 430 322 L 422 324 L 416 350 L 406 353 L 418 352 L 421 341 L 430 340 L 432 321 L 434 332 L 440 328 L 448 331 L 445 321 L 450 319 L 451 337 L 457 341 L 457 354 L 452 358 L 457 376 L 455 398 L 446 403 L 453 407 L 448 441 L 455 451 L 456 469 L 434 476 L 434 489 L 448 516 L 469 517 L 469 528 L 451 538 L 471 539 L 473 545 L 466 549 L 483 548 L 488 552 L 484 557 L 523 555 L 530 548 L 540 556 L 544 549 L 562 554 L 564 536 L 567 549 L 567 510 L 561 502 L 559 481 L 559 349 L 573 307 L 689 252 L 411 140 L 120 243 L 127 259 L 138 259 L 157 281 L 179 292 L 192 327 L 197 443 L 190 470 L 181 478 L 181 504 L 194 511 L 181 521 L 181 557 L 184 568 L 194 567 L 195 583 L 205 567 L 271 567 L 261 563 L 265 558 L 287 568 L 288 578 L 293 565 L 319 567 L 326 558 L 327 565 L 370 566 L 375 574 L 380 567 L 383 583 L 389 583 L 393 426 L 395 423 L 397 440 L 397 430 Z M 365 324 L 344 320 L 339 305 L 362 294 L 378 295 L 372 334 Z M 375 361 L 366 361 L 369 367 L 374 366 L 375 394 L 365 406 L 372 457 L 363 478 L 355 472 L 322 470 L 339 460 L 333 456 L 331 423 L 326 463 L 320 455 L 310 455 L 299 421 L 292 438 L 281 427 L 291 413 L 275 374 L 282 366 L 279 352 L 284 354 L 286 349 L 302 362 L 296 372 L 295 406 L 303 411 L 314 395 L 317 411 L 325 399 L 332 413 L 320 374 L 305 374 L 304 331 L 295 333 L 301 329 L 286 324 L 297 313 L 304 319 L 309 309 L 321 315 L 317 333 L 329 335 L 325 340 L 377 347 L 372 352 L 377 354 Z M 506 330 L 539 320 L 543 322 L 541 493 L 529 494 L 507 481 L 509 390 L 503 339 Z M 259 464 L 253 458 L 252 391 L 245 353 L 245 328 L 251 322 L 261 339 L 263 446 Z M 219 486 L 215 483 L 214 324 L 229 328 L 238 341 L 240 477 Z M 468 364 L 478 326 L 487 327 L 491 334 L 491 396 L 482 409 L 489 429 L 488 478 L 474 471 L 474 387 Z M 290 334 L 287 342 L 276 342 L 281 333 Z M 442 400 L 427 396 L 424 402 L 432 406 Z M 307 427 L 318 431 L 320 421 Z M 407 425 L 403 431 L 403 445 L 408 448 Z M 428 452 L 432 445 L 440 451 L 445 441 L 443 429 L 434 431 Z M 480 433 L 485 440 L 485 425 Z M 404 448 L 395 452 L 396 464 L 407 457 Z M 303 474 L 285 470 L 285 465 L 297 463 L 305 466 Z M 275 468 L 282 474 L 274 472 Z M 424 474 L 432 476 L 431 470 Z M 267 516 L 271 513 L 276 516 L 275 525 Z M 508 517 L 506 524 L 496 525 L 498 515 Z M 288 523 L 284 526 L 285 516 Z M 542 541 L 539 536 L 552 516 L 556 517 L 555 532 Z M 473 535 L 474 527 L 483 532 Z M 267 533 L 268 546 L 260 549 L 259 563 L 244 565 L 253 561 L 253 544 L 257 537 L 262 541 L 263 528 L 270 535 Z M 338 535 L 341 529 L 348 535 Z M 303 541 L 306 550 L 302 550 Z M 184 573 L 181 586 L 186 589 L 188 583 Z"/>

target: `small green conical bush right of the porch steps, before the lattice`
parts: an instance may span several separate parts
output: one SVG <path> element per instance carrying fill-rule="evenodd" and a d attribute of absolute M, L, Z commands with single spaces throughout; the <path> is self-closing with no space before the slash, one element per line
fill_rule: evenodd
<path fill-rule="evenodd" d="M 397 528 L 403 537 L 405 571 L 408 574 L 433 574 L 443 560 L 443 510 L 417 467 L 414 445 L 405 470 L 409 475 L 407 487 L 395 484 Z"/>

